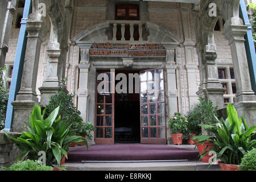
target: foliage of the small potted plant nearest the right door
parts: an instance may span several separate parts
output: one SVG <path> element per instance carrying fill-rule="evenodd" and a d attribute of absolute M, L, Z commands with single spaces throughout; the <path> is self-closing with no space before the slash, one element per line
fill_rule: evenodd
<path fill-rule="evenodd" d="M 172 134 L 186 133 L 188 129 L 187 118 L 180 113 L 174 113 L 174 117 L 169 119 L 169 128 Z"/>

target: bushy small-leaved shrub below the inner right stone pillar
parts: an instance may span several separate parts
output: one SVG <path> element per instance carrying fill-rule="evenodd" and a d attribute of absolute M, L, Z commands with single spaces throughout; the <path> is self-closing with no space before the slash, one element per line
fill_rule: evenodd
<path fill-rule="evenodd" d="M 200 104 L 195 105 L 187 113 L 188 118 L 188 132 L 201 134 L 201 127 L 199 125 L 211 125 L 216 123 L 215 116 L 217 116 L 218 106 L 213 107 L 212 101 L 206 101 L 203 97 L 199 97 Z"/>

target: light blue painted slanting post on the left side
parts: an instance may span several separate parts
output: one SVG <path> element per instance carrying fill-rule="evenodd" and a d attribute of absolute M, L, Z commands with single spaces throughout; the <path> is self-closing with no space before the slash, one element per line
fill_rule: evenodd
<path fill-rule="evenodd" d="M 31 13 L 31 7 L 32 7 L 31 0 L 26 0 L 24 11 L 23 11 L 23 18 L 21 21 L 17 49 L 16 49 L 16 55 L 15 55 L 15 61 L 14 61 L 14 67 L 13 67 L 13 76 L 11 78 L 11 87 L 10 87 L 9 100 L 8 100 L 8 106 L 7 106 L 7 112 L 6 112 L 5 129 L 3 129 L 7 132 L 10 132 L 11 126 L 13 124 L 14 109 L 13 109 L 13 105 L 11 105 L 11 102 L 15 101 L 16 94 L 20 89 L 20 83 L 22 80 L 24 57 L 25 57 L 26 47 L 27 47 L 26 26 L 27 26 L 28 15 Z"/>

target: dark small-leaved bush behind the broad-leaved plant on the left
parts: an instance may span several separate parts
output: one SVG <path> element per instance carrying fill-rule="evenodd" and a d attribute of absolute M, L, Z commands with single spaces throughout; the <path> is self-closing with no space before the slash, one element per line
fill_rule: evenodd
<path fill-rule="evenodd" d="M 49 115 L 56 107 L 60 106 L 59 115 L 61 115 L 61 119 L 65 120 L 67 125 L 72 125 L 72 131 L 74 131 L 74 134 L 78 134 L 77 130 L 80 130 L 82 125 L 81 113 L 76 110 L 73 104 L 74 95 L 65 92 L 65 82 L 66 78 L 63 80 L 61 90 L 50 98 L 49 104 L 46 106 L 46 115 Z"/>

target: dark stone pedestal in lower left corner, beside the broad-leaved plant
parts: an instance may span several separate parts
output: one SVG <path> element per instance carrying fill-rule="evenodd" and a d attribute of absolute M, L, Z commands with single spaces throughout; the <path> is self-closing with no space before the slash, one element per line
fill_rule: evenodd
<path fill-rule="evenodd" d="M 9 133 L 11 137 L 18 138 L 20 133 Z M 13 142 L 6 137 L 4 133 L 0 133 L 0 168 L 10 167 L 19 155 L 19 150 L 14 146 Z"/>

